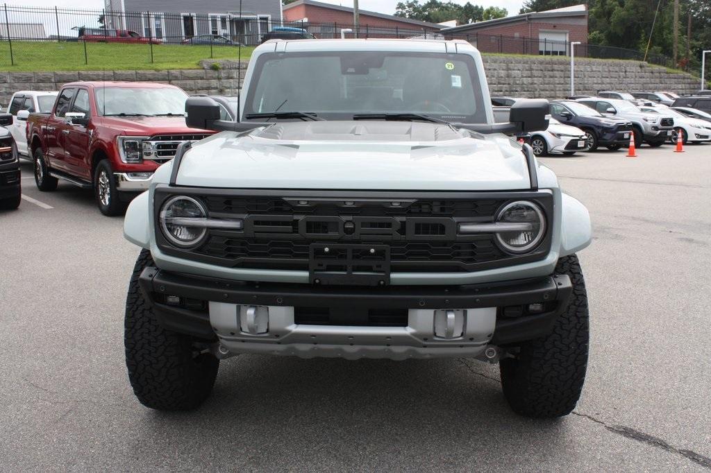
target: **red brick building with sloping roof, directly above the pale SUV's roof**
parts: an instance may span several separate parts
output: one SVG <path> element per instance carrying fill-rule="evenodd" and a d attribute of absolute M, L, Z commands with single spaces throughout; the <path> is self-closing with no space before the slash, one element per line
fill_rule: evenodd
<path fill-rule="evenodd" d="M 340 36 L 341 28 L 352 28 L 353 9 L 314 0 L 296 0 L 283 7 L 284 23 L 304 23 L 317 38 Z M 438 32 L 437 23 L 412 20 L 375 11 L 359 10 L 360 37 L 407 38 Z"/>

